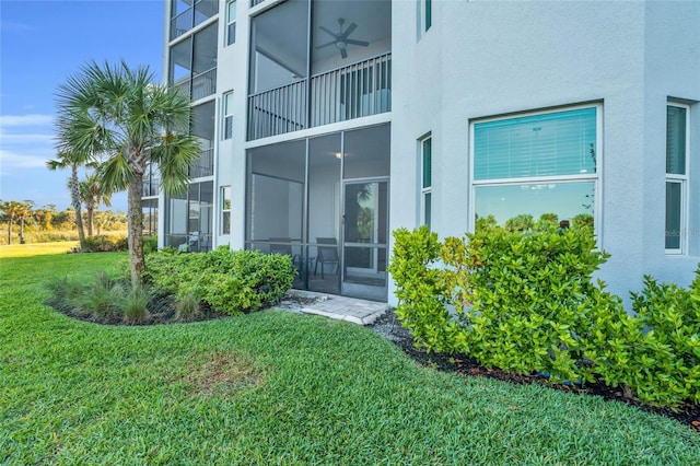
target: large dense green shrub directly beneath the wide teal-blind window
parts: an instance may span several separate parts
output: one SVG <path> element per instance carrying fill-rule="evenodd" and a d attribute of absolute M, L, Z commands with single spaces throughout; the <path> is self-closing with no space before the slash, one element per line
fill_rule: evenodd
<path fill-rule="evenodd" d="M 487 365 L 593 381 L 608 345 L 602 328 L 627 318 L 619 298 L 592 275 L 607 255 L 586 229 L 537 234 L 501 228 L 466 245 L 470 324 L 467 346 Z"/>

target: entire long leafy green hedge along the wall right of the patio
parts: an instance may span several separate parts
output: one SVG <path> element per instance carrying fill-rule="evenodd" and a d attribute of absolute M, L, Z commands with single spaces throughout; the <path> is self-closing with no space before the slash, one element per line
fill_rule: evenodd
<path fill-rule="evenodd" d="M 700 267 L 688 289 L 646 277 L 629 315 L 592 278 L 608 256 L 587 229 L 394 237 L 396 313 L 427 350 L 552 382 L 604 381 L 652 405 L 700 403 Z"/>

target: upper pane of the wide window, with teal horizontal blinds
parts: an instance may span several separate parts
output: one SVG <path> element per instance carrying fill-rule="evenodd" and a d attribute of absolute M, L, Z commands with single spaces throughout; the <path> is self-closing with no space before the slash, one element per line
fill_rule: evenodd
<path fill-rule="evenodd" d="M 596 108 L 474 126 L 475 179 L 596 172 Z"/>

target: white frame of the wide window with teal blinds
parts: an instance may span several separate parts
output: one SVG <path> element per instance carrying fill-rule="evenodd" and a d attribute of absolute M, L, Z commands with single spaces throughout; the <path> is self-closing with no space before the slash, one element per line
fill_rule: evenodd
<path fill-rule="evenodd" d="M 505 121 L 509 119 L 517 120 L 518 118 L 535 116 L 535 115 L 547 115 L 547 114 L 556 114 L 563 113 L 569 110 L 584 109 L 584 108 L 595 108 L 595 143 L 596 143 L 596 163 L 595 163 L 595 172 L 594 173 L 582 173 L 574 175 L 542 175 L 542 176 L 523 176 L 523 177 L 511 177 L 511 178 L 492 178 L 492 179 L 476 179 L 475 178 L 475 127 L 478 124 L 489 123 L 489 121 Z M 474 232 L 476 229 L 476 197 L 477 189 L 479 187 L 489 187 L 489 186 L 514 186 L 514 185 L 527 185 L 527 184 L 539 184 L 539 183 L 581 183 L 581 182 L 593 182 L 594 190 L 593 190 L 593 224 L 594 232 L 593 234 L 598 238 L 598 247 L 603 247 L 603 224 L 602 224 L 602 199 L 600 193 L 603 191 L 603 174 L 602 167 L 603 165 L 603 102 L 591 102 L 591 103 L 582 103 L 582 104 L 573 104 L 558 107 L 548 107 L 541 109 L 533 109 L 526 112 L 517 112 L 517 113 L 509 113 L 504 115 L 497 115 L 490 117 L 479 117 L 472 118 L 469 120 L 469 209 L 470 214 L 468 215 L 468 231 Z"/>

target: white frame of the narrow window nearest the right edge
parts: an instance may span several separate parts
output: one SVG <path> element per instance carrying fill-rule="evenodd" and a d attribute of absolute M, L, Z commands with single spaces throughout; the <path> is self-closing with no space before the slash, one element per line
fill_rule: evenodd
<path fill-rule="evenodd" d="M 690 105 L 682 104 L 680 102 L 668 101 L 666 103 L 666 141 L 668 138 L 668 107 L 682 108 L 686 112 L 686 121 L 685 121 L 685 130 L 686 137 L 684 141 L 685 145 L 685 165 L 684 173 L 668 173 L 666 168 L 664 186 L 666 186 L 666 206 L 664 209 L 664 252 L 668 256 L 684 256 L 688 254 L 688 218 L 689 218 L 689 202 L 688 202 L 688 179 L 689 179 L 689 170 L 690 170 Z M 666 152 L 665 158 L 666 166 L 668 166 L 668 143 L 666 142 Z M 680 217 L 680 225 L 679 225 L 679 243 L 677 248 L 669 248 L 666 245 L 666 237 L 668 235 L 668 225 L 666 224 L 667 218 L 667 208 L 668 208 L 668 184 L 678 184 L 680 185 L 680 206 L 678 207 L 679 217 Z"/>

